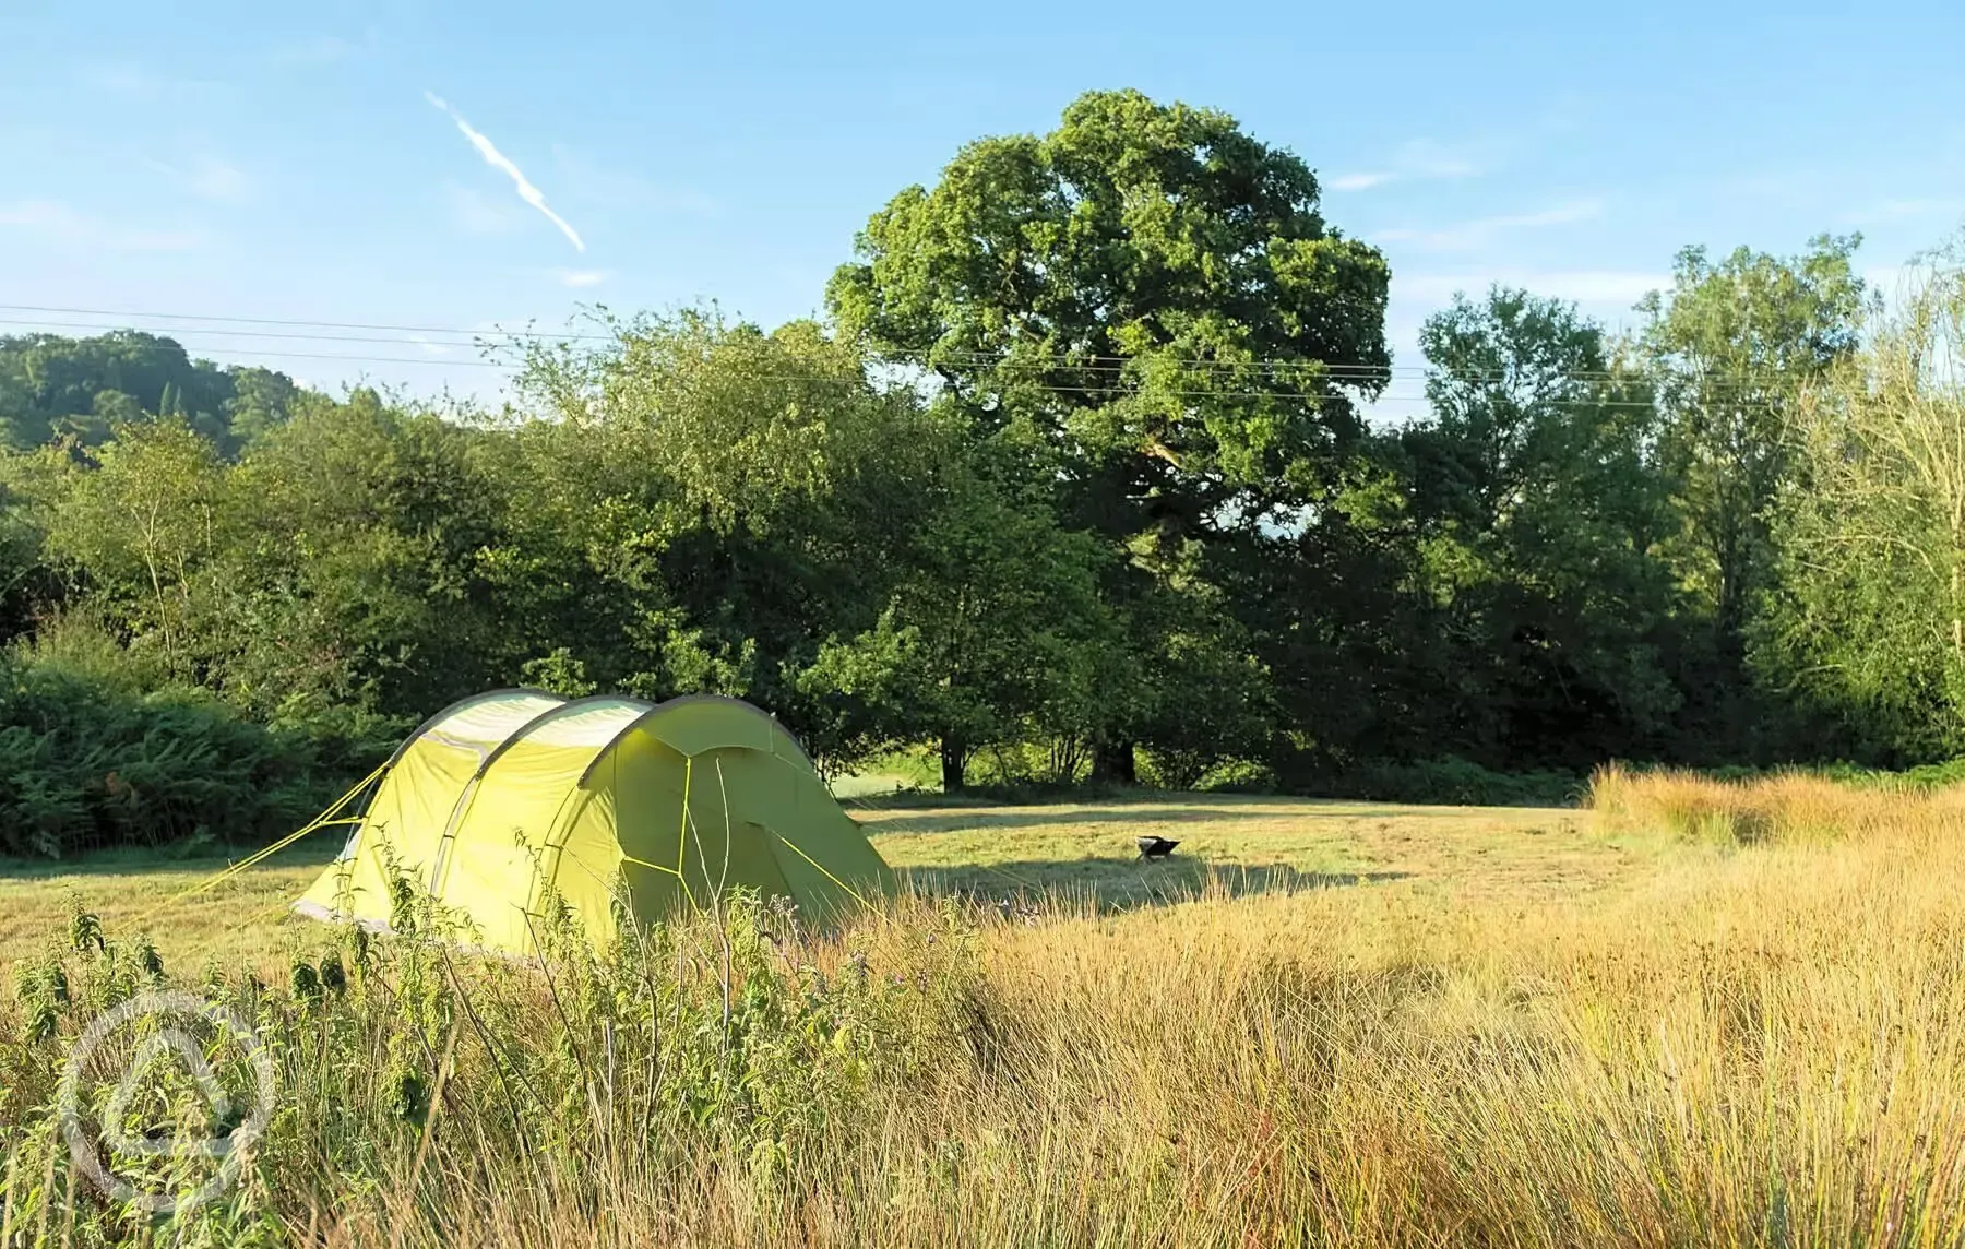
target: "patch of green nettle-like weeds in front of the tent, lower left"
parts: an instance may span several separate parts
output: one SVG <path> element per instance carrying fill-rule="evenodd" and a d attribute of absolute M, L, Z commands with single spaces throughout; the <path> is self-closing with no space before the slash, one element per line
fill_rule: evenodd
<path fill-rule="evenodd" d="M 927 1055 L 977 1031 L 975 929 L 953 903 L 815 935 L 788 901 L 739 892 L 595 945 L 548 897 L 538 954 L 505 958 L 477 952 L 472 927 L 401 870 L 393 899 L 389 931 L 297 929 L 281 976 L 214 960 L 175 986 L 248 1021 L 277 1074 L 238 1182 L 177 1216 L 183 1243 L 277 1239 L 316 1220 L 387 1225 L 446 1186 L 574 1190 L 601 1167 L 684 1184 L 707 1159 L 764 1198 L 790 1196 L 827 1139 L 943 1080 Z M 145 935 L 106 933 L 81 907 L 18 968 L 16 1009 L 0 1011 L 8 1227 L 73 1218 L 81 1245 L 157 1231 L 73 1174 L 57 1086 L 92 1019 L 167 986 Z M 206 1060 L 240 1074 L 224 1037 Z M 128 1129 L 230 1127 L 198 1119 L 212 1108 L 181 1068 L 149 1066 Z M 175 1167 L 140 1178 L 191 1192 L 210 1174 L 208 1161 Z"/>

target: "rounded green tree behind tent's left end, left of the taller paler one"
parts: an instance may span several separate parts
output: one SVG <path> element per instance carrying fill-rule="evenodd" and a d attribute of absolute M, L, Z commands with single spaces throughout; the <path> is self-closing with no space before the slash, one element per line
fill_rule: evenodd
<path fill-rule="evenodd" d="M 415 721 L 515 678 L 523 642 L 483 568 L 507 503 L 477 442 L 373 391 L 257 442 L 200 587 L 210 683 L 275 723 L 338 705 Z"/>

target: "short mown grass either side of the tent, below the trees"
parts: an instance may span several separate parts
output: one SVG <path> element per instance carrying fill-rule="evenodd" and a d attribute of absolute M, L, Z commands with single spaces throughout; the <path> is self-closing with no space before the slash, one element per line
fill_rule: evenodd
<path fill-rule="evenodd" d="M 1299 894 L 1370 886 L 1446 897 L 1548 896 L 1603 886 L 1633 854 L 1588 835 L 1572 809 L 1405 807 L 1358 801 L 1165 793 L 1114 803 L 1036 807 L 849 801 L 880 854 L 931 896 L 1051 899 L 1073 909 L 1177 903 L 1205 892 Z M 1134 837 L 1177 839 L 1165 862 L 1140 862 Z M 147 929 L 165 956 L 195 964 L 279 962 L 318 939 L 287 913 L 326 866 L 338 837 L 297 846 L 177 901 L 224 858 L 116 850 L 69 862 L 0 860 L 0 962 L 61 931 L 73 901 L 110 931 Z"/>

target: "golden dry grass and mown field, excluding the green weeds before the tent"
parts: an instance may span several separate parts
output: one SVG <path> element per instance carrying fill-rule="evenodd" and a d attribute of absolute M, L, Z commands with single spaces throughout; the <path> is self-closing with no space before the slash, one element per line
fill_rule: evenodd
<path fill-rule="evenodd" d="M 1016 899 L 982 929 L 990 1057 L 839 1125 L 796 1223 L 719 1170 L 599 1220 L 458 1204 L 452 1243 L 1965 1243 L 1949 793 L 1611 772 L 1592 811 L 863 817 L 918 888 Z M 1128 862 L 1138 833 L 1189 862 Z M 305 927 L 226 925 L 312 870 L 185 903 L 159 943 L 271 954 Z M 0 880 L 0 956 L 71 890 L 114 929 L 195 876 Z"/>

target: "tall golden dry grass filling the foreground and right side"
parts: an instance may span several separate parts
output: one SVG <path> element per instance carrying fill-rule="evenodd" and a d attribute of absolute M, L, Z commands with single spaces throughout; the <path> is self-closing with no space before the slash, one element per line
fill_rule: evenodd
<path fill-rule="evenodd" d="M 432 1049 L 446 1019 L 487 1023 L 456 1029 L 456 1074 L 413 1121 L 387 1113 L 381 1070 L 312 1057 L 316 1035 L 401 1027 L 379 990 L 305 1009 L 267 990 L 261 1017 L 291 1031 L 289 1121 L 234 1208 L 189 1231 L 312 1245 L 1965 1243 L 1965 813 L 1790 780 L 1704 795 L 1684 778 L 1617 784 L 1633 827 L 1647 809 L 1690 815 L 1680 831 L 1723 811 L 1735 839 L 1739 821 L 1767 823 L 1745 848 L 1678 844 L 1643 884 L 1588 905 L 1442 911 L 1419 890 L 1338 888 L 1006 923 L 906 903 L 837 941 L 782 954 L 764 941 L 758 960 L 741 925 L 694 925 L 619 978 L 562 968 L 558 994 L 483 970 L 450 1005 L 379 964 L 399 1000 L 424 994 Z M 731 941 L 735 1009 L 751 1000 L 770 1027 L 743 1041 L 749 1100 L 698 1121 L 678 1106 L 715 1088 L 692 1062 L 727 1062 L 715 1027 Z M 654 978 L 646 1017 L 607 1000 L 639 992 L 637 976 Z M 611 1062 L 599 1017 L 613 1019 Z M 841 1017 L 867 1033 L 839 1041 L 827 1029 Z M 674 1019 L 709 1033 L 678 1037 Z M 26 1045 L 8 1027 L 0 1051 Z M 33 1076 L 0 1068 L 10 1078 Z M 766 1129 L 760 1108 L 776 1108 Z M 10 1174 L 57 1176 L 45 1225 L 59 1229 L 61 1163 L 37 1153 L 37 1131 L 24 1119 L 8 1137 Z M 16 1231 L 41 1225 L 24 1190 L 8 1190 Z"/>

